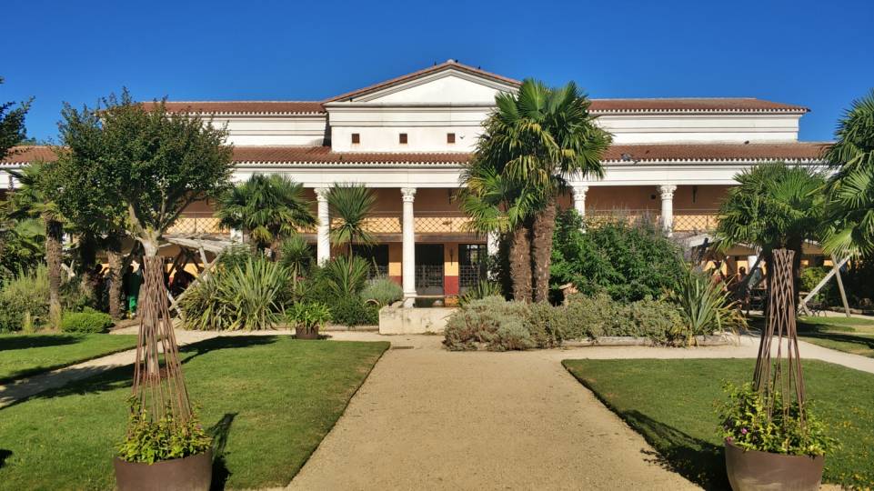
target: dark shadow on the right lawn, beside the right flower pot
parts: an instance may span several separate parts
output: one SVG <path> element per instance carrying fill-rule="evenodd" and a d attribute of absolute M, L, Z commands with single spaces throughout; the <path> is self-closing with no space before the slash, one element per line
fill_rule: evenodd
<path fill-rule="evenodd" d="M 639 411 L 618 413 L 658 452 L 646 452 L 651 461 L 677 472 L 705 489 L 730 489 L 722 446 L 689 436 Z"/>

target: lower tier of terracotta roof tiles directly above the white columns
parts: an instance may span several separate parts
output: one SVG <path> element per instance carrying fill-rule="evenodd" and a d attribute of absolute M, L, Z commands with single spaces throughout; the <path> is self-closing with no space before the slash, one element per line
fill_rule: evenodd
<path fill-rule="evenodd" d="M 809 161 L 818 160 L 829 144 L 819 142 L 753 143 L 753 144 L 663 144 L 613 145 L 605 162 L 658 161 Z M 234 161 L 253 164 L 446 164 L 467 162 L 470 154 L 463 152 L 389 153 L 332 152 L 328 146 L 235 146 Z M 35 160 L 50 161 L 55 154 L 48 146 L 17 147 L 2 164 L 26 164 Z"/>

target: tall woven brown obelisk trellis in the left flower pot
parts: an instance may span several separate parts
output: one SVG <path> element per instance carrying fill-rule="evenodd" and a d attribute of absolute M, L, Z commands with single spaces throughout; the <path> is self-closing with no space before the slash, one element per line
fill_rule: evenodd
<path fill-rule="evenodd" d="M 175 422 L 184 423 L 191 417 L 191 405 L 167 308 L 164 262 L 159 256 L 145 257 L 143 262 L 134 396 L 139 398 L 142 410 L 152 421 L 172 416 Z"/>

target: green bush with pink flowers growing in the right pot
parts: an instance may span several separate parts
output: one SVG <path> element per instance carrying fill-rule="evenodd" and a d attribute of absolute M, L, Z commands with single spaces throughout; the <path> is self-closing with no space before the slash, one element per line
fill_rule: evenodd
<path fill-rule="evenodd" d="M 750 383 L 727 384 L 725 390 L 728 402 L 719 409 L 719 434 L 735 446 L 790 456 L 822 456 L 837 446 L 809 409 L 804 411 L 803 424 L 798 403 L 791 404 L 784 414 L 779 393 L 769 399 Z M 769 406 L 774 408 L 771 416 Z"/>

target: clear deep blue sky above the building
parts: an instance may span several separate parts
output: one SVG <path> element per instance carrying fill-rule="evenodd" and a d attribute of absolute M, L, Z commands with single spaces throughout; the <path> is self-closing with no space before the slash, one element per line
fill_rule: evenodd
<path fill-rule="evenodd" d="M 0 4 L 0 101 L 318 100 L 456 58 L 593 97 L 754 96 L 807 105 L 829 140 L 874 87 L 874 1 L 85 2 Z"/>

